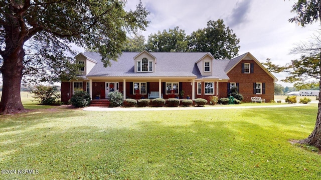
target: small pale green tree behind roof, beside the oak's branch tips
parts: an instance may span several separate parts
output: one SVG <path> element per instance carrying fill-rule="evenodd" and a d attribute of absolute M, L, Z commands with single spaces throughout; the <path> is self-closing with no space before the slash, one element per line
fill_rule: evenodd
<path fill-rule="evenodd" d="M 127 37 L 125 47 L 122 51 L 141 52 L 145 49 L 145 36 L 135 34 L 132 37 Z"/>

